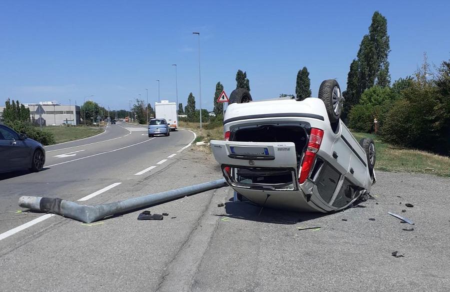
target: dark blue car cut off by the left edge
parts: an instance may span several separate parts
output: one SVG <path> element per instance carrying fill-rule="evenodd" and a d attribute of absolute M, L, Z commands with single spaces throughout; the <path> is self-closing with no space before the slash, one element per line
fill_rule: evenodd
<path fill-rule="evenodd" d="M 37 141 L 0 125 L 0 172 L 29 169 L 37 172 L 45 163 L 45 150 Z"/>

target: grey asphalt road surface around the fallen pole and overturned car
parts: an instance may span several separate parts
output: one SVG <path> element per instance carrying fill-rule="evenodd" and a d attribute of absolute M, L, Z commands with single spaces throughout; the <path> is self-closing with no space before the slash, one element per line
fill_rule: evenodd
<path fill-rule="evenodd" d="M 189 132 L 149 140 L 109 130 L 124 140 L 95 147 L 147 142 L 3 179 L 2 210 L 17 210 L 14 200 L 24 190 L 77 200 L 121 183 L 86 201 L 97 204 L 220 178 L 210 154 L 177 152 L 193 138 Z M 100 150 L 88 151 L 79 153 Z M 161 159 L 168 160 L 158 165 Z M 149 166 L 157 167 L 134 175 Z M 53 216 L 0 240 L 0 291 L 449 291 L 450 179 L 383 172 L 377 179 L 373 200 L 329 215 L 260 212 L 232 203 L 232 192 L 222 188 L 149 208 L 169 213 L 162 221 L 137 221 L 139 212 L 90 225 Z M 415 224 L 400 223 L 389 211 Z M 26 220 L 0 221 L 0 233 Z"/>

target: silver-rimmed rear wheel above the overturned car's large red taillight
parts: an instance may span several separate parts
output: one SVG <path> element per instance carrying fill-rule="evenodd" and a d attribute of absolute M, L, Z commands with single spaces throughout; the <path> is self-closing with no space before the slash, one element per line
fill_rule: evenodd
<path fill-rule="evenodd" d="M 342 93 L 339 84 L 334 79 L 324 80 L 320 84 L 318 98 L 326 107 L 326 113 L 331 124 L 339 121 L 342 110 Z"/>

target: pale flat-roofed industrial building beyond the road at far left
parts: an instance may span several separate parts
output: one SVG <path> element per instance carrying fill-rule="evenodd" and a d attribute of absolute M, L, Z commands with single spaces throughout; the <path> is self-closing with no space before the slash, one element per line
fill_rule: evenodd
<path fill-rule="evenodd" d="M 61 105 L 51 101 L 39 103 L 24 103 L 25 108 L 29 108 L 30 120 L 35 125 L 78 125 L 80 123 L 78 105 Z M 0 120 L 4 106 L 0 106 Z"/>

